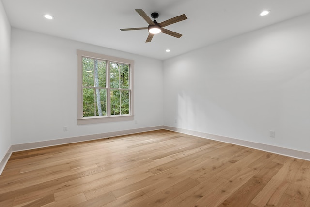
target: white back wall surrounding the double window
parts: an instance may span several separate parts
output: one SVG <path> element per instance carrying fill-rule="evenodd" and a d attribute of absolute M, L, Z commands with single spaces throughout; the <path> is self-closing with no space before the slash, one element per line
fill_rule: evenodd
<path fill-rule="evenodd" d="M 16 28 L 11 49 L 12 144 L 163 125 L 162 61 Z M 77 125 L 77 49 L 135 61 L 138 124 Z M 67 132 L 63 126 L 68 126 Z"/>

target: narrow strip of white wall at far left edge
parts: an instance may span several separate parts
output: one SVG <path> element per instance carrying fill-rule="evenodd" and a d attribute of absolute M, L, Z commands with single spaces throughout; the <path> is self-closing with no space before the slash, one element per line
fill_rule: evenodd
<path fill-rule="evenodd" d="M 11 146 L 10 46 L 11 25 L 0 0 L 0 162 Z"/>

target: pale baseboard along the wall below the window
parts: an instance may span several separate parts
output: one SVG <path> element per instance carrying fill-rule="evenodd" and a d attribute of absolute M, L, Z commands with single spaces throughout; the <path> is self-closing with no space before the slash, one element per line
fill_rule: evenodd
<path fill-rule="evenodd" d="M 122 136 L 122 135 L 127 135 L 127 134 L 135 134 L 135 133 L 146 132 L 146 131 L 154 131 L 154 130 L 163 129 L 163 128 L 164 128 L 163 126 L 145 127 L 145 128 L 129 129 L 129 130 L 124 130 L 124 131 L 107 132 L 107 133 L 102 133 L 102 134 L 92 134 L 92 135 L 69 137 L 69 138 L 63 138 L 63 139 L 57 139 L 57 140 L 41 141 L 41 142 L 35 142 L 35 143 L 15 144 L 15 145 L 12 145 L 12 152 L 23 151 L 23 150 L 28 150 L 28 149 L 36 149 L 36 148 L 47 147 L 47 146 L 56 146 L 56 145 L 68 144 L 68 143 L 78 143 L 78 142 L 84 142 L 84 141 L 89 141 L 89 140 L 97 140 L 97 139 L 116 137 L 116 136 Z"/>

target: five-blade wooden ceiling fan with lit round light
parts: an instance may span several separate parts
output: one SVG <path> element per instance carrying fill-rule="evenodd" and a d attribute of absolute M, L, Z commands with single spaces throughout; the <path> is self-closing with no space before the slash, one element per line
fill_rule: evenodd
<path fill-rule="evenodd" d="M 136 9 L 136 12 L 138 12 L 138 14 L 140 16 L 142 16 L 142 18 L 149 24 L 148 27 L 137 27 L 137 28 L 125 28 L 125 29 L 121 29 L 121 31 L 127 31 L 127 30 L 149 30 L 149 36 L 147 37 L 145 42 L 151 42 L 154 34 L 158 34 L 160 32 L 163 32 L 165 34 L 171 35 L 173 37 L 177 37 L 180 38 L 182 36 L 182 34 L 176 33 L 176 32 L 172 32 L 170 30 L 167 30 L 163 27 L 166 27 L 168 25 L 174 24 L 176 22 L 179 21 L 183 21 L 185 19 L 187 19 L 187 17 L 183 14 L 180 16 L 176 16 L 173 17 L 171 19 L 168 19 L 166 21 L 163 21 L 161 23 L 157 23 L 156 18 L 158 18 L 158 13 L 157 12 L 153 12 L 151 14 L 152 18 L 154 18 L 154 21 L 152 21 L 152 19 L 147 16 L 147 14 L 145 14 L 145 12 L 142 9 Z"/>

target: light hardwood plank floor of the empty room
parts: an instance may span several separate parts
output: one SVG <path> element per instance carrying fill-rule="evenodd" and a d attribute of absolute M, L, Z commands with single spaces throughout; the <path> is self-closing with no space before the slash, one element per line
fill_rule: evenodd
<path fill-rule="evenodd" d="M 0 207 L 310 207 L 310 161 L 157 130 L 13 153 Z"/>

